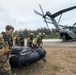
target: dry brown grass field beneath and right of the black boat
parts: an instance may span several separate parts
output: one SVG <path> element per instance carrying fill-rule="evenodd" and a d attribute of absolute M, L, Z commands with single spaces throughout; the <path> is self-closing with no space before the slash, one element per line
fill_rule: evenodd
<path fill-rule="evenodd" d="M 25 68 L 12 68 L 17 75 L 76 75 L 76 46 L 44 46 L 46 60 Z"/>

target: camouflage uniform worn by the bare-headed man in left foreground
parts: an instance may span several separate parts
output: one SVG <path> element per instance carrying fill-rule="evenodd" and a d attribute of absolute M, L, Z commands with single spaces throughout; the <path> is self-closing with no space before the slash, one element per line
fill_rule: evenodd
<path fill-rule="evenodd" d="M 9 64 L 9 44 L 0 38 L 0 75 L 11 75 L 11 67 Z"/>

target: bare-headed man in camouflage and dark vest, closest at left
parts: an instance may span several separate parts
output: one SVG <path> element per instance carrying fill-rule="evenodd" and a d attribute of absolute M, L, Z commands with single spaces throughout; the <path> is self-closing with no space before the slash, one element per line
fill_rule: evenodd
<path fill-rule="evenodd" d="M 0 34 L 0 75 L 12 75 L 9 58 L 11 55 L 10 48 L 13 45 L 12 32 L 14 28 L 6 26 L 6 32 Z M 11 45 L 10 45 L 11 44 Z"/>

